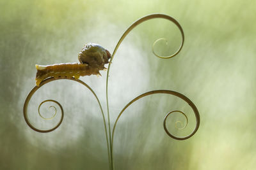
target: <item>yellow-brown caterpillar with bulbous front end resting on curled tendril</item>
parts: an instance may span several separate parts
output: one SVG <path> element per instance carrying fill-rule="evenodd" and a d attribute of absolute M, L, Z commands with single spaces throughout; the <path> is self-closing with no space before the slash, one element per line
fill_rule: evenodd
<path fill-rule="evenodd" d="M 108 50 L 95 43 L 88 43 L 83 46 L 83 49 L 78 54 L 80 63 L 61 63 L 41 66 L 36 64 L 36 86 L 39 86 L 41 81 L 49 77 L 54 78 L 71 78 L 78 79 L 80 76 L 90 76 L 92 74 L 100 75 L 100 70 L 106 69 L 104 64 L 109 63 L 111 54 Z"/>

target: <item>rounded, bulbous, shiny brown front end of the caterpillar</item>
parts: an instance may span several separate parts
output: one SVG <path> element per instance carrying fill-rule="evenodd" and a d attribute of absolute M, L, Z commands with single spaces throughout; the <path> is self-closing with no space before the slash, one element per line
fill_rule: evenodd
<path fill-rule="evenodd" d="M 78 60 L 81 64 L 88 64 L 99 69 L 104 69 L 104 64 L 108 64 L 110 58 L 111 54 L 109 51 L 95 43 L 84 45 L 78 55 Z"/>

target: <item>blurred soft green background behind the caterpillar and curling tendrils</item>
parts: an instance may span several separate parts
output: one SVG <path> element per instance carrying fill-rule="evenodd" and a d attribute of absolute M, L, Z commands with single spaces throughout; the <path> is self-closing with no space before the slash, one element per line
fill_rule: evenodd
<path fill-rule="evenodd" d="M 196 104 L 201 124 L 185 141 L 169 138 L 163 118 L 169 111 L 195 117 L 177 97 L 145 97 L 125 111 L 116 127 L 115 169 L 255 169 L 256 1 L 0 1 L 0 169 L 108 169 L 108 153 L 99 106 L 92 94 L 68 80 L 38 90 L 29 103 L 56 99 L 65 111 L 56 131 L 41 134 L 28 127 L 22 108 L 35 86 L 35 64 L 78 62 L 88 42 L 113 52 L 118 39 L 136 19 L 150 13 L 176 18 L 185 44 L 172 59 L 152 54 L 175 52 L 180 33 L 171 22 L 154 19 L 127 36 L 116 53 L 109 76 L 111 125 L 131 99 L 148 90 L 175 90 Z M 106 71 L 81 78 L 90 85 L 106 113 Z M 48 113 L 45 113 L 48 114 Z M 36 115 L 38 117 L 38 115 Z M 48 115 L 49 116 L 49 115 Z M 36 125 L 44 125 L 36 122 Z"/>

